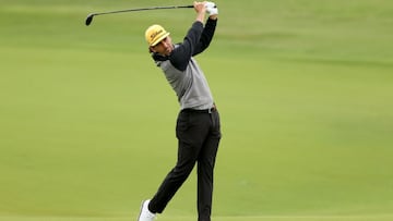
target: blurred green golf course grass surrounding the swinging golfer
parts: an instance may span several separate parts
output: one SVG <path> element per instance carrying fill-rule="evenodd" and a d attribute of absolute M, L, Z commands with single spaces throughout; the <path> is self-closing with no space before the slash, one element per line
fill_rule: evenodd
<path fill-rule="evenodd" d="M 0 220 L 132 220 L 176 158 L 175 94 L 143 33 L 162 1 L 3 0 Z M 167 1 L 166 4 L 184 4 Z M 222 115 L 215 221 L 393 218 L 393 3 L 217 2 L 198 60 Z M 195 220 L 195 175 L 159 220 Z"/>

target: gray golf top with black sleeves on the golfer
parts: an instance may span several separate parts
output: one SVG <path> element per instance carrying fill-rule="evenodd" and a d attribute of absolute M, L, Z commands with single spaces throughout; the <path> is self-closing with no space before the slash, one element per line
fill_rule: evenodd
<path fill-rule="evenodd" d="M 213 107 L 214 100 L 206 77 L 193 57 L 209 47 L 216 23 L 216 20 L 207 20 L 203 27 L 201 22 L 194 22 L 183 42 L 175 45 L 170 56 L 153 54 L 157 66 L 163 70 L 175 90 L 181 109 L 203 110 Z"/>

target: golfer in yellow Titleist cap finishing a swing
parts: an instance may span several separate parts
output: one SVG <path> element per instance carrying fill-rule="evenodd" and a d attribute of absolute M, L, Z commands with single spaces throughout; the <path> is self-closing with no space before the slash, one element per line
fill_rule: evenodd
<path fill-rule="evenodd" d="M 193 57 L 204 51 L 214 35 L 218 10 L 213 2 L 194 2 L 196 19 L 180 44 L 169 33 L 152 25 L 145 37 L 152 57 L 175 90 L 181 110 L 176 136 L 178 159 L 152 199 L 144 200 L 139 221 L 153 221 L 162 213 L 198 163 L 198 220 L 210 221 L 213 170 L 221 139 L 219 115 L 204 73 Z M 204 25 L 205 13 L 209 19 Z"/>

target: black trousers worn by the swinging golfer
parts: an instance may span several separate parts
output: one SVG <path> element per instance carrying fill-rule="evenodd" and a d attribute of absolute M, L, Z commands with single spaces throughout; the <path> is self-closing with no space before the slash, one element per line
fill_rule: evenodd
<path fill-rule="evenodd" d="M 213 196 L 213 170 L 221 139 L 219 114 L 182 110 L 177 120 L 178 159 L 152 198 L 148 209 L 163 212 L 198 162 L 199 221 L 210 221 Z"/>

